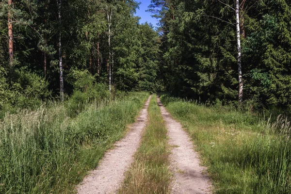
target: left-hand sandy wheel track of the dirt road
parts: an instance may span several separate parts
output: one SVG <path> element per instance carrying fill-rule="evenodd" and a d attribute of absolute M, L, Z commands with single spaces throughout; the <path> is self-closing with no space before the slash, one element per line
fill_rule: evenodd
<path fill-rule="evenodd" d="M 151 97 L 151 96 L 150 96 Z M 98 167 L 86 176 L 78 185 L 78 194 L 114 194 L 123 183 L 124 173 L 133 161 L 133 154 L 141 142 L 143 129 L 146 127 L 147 99 L 137 122 L 134 123 L 128 134 L 115 143 L 113 150 L 105 153 Z"/>

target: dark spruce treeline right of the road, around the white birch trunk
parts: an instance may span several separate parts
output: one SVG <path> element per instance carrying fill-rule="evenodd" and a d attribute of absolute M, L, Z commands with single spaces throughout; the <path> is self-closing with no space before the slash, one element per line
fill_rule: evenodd
<path fill-rule="evenodd" d="M 237 102 L 240 85 L 244 102 L 290 110 L 290 6 L 290 0 L 152 0 L 150 11 L 161 18 L 166 89 L 203 101 Z"/>

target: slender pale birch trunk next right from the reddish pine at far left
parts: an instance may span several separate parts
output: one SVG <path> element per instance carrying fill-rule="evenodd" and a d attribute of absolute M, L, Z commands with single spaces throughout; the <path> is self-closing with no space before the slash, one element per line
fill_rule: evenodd
<path fill-rule="evenodd" d="M 58 15 L 59 15 L 59 67 L 60 67 L 60 97 L 64 101 L 64 78 L 63 78 L 63 53 L 62 53 L 62 0 L 57 0 L 58 3 Z"/>

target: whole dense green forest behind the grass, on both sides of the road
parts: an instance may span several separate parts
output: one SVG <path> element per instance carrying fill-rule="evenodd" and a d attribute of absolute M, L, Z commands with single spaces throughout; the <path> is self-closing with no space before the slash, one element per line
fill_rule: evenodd
<path fill-rule="evenodd" d="M 90 82 L 288 113 L 290 2 L 242 0 L 238 15 L 235 2 L 152 0 L 155 31 L 134 0 L 2 0 L 1 107 L 63 100 Z"/>

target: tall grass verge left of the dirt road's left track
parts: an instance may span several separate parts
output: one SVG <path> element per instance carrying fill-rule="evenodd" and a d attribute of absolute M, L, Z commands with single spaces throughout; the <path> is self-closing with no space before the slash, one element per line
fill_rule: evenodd
<path fill-rule="evenodd" d="M 71 118 L 64 105 L 7 114 L 0 122 L 0 193 L 73 193 L 133 123 L 148 93 L 88 104 Z"/>

